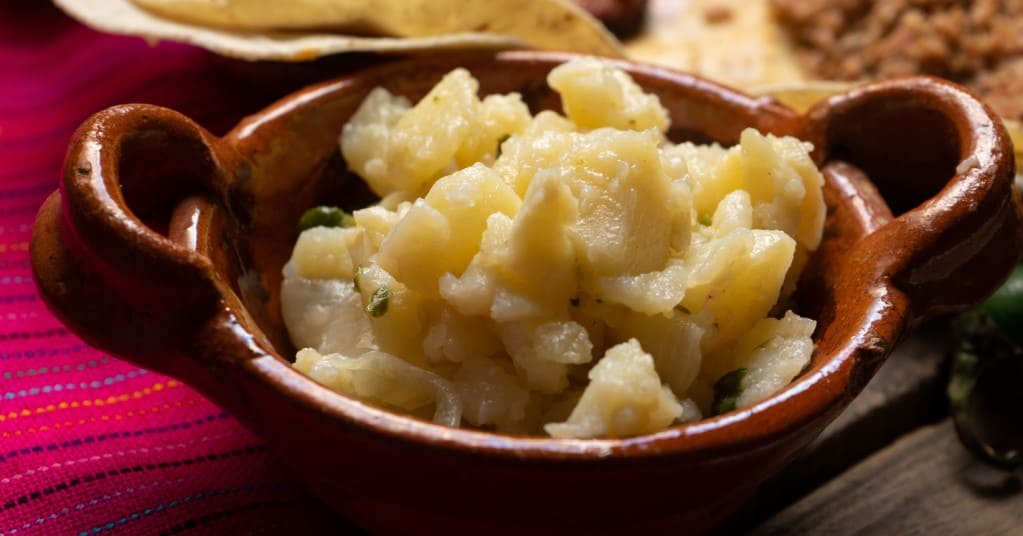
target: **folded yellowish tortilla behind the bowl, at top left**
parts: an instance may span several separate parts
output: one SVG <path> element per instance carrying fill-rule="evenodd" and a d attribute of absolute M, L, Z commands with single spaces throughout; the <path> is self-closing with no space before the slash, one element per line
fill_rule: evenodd
<path fill-rule="evenodd" d="M 53 3 L 101 32 L 138 36 L 150 43 L 188 43 L 249 61 L 304 62 L 363 52 L 414 54 L 530 46 L 605 56 L 622 54 L 614 35 L 571 0 Z"/>

